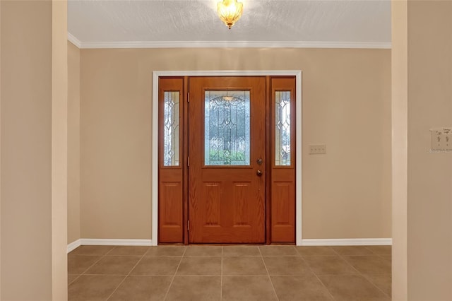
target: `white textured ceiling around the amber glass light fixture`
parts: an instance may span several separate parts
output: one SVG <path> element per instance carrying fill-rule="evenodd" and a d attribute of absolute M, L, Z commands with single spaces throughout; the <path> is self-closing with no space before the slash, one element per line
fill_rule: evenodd
<path fill-rule="evenodd" d="M 218 0 L 69 0 L 68 31 L 78 46 L 189 42 L 390 45 L 389 0 L 242 0 L 228 30 Z M 137 44 L 138 45 L 138 44 Z"/>

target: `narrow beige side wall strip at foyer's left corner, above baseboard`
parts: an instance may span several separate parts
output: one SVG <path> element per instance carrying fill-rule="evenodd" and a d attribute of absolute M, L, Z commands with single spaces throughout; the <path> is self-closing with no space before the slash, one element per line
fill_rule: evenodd
<path fill-rule="evenodd" d="M 68 42 L 68 244 L 80 236 L 80 49 Z"/>

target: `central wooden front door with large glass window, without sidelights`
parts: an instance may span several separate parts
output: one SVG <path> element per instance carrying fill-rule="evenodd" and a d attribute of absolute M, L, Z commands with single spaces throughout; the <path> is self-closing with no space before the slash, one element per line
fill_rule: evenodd
<path fill-rule="evenodd" d="M 266 242 L 266 78 L 189 79 L 189 242 Z"/>

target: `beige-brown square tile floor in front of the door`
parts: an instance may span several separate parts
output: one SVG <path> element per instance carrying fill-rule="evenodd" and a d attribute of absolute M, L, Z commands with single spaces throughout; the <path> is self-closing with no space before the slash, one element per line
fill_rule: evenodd
<path fill-rule="evenodd" d="M 69 300 L 391 300 L 391 247 L 81 246 Z"/>

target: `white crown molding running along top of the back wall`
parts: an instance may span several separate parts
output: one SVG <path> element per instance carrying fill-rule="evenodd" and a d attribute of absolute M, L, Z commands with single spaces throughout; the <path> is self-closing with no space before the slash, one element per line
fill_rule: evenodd
<path fill-rule="evenodd" d="M 69 37 L 70 33 L 68 33 Z M 77 40 L 71 35 L 71 38 Z M 72 40 L 70 40 L 72 42 Z M 83 49 L 98 48 L 359 48 L 391 49 L 391 42 L 302 42 L 302 41 L 134 41 L 80 42 Z M 74 43 L 75 44 L 75 43 Z"/>

